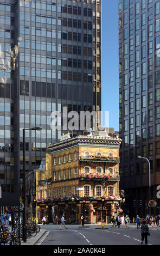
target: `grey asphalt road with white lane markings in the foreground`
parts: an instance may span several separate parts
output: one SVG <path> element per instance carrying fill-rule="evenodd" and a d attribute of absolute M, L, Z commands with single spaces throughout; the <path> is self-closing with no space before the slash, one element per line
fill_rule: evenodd
<path fill-rule="evenodd" d="M 111 228 L 111 225 L 105 225 L 108 229 L 101 228 L 101 225 L 87 225 L 89 228 L 79 228 L 80 225 L 67 225 L 68 229 L 59 225 L 41 225 L 47 232 L 37 241 L 36 245 L 140 245 L 141 232 L 135 225 L 130 225 L 125 230 L 124 225 L 120 228 Z M 149 245 L 160 245 L 160 230 L 152 230 L 149 227 L 151 236 L 148 236 Z"/>

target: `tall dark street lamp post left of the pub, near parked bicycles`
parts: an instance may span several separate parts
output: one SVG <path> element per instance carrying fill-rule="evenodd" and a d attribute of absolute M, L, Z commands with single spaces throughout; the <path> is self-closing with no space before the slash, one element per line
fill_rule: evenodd
<path fill-rule="evenodd" d="M 32 131 L 40 131 L 42 130 L 41 127 L 33 127 L 30 129 L 23 129 L 23 242 L 27 242 L 27 235 L 26 235 L 26 223 L 25 223 L 25 131 L 32 130 Z"/>

